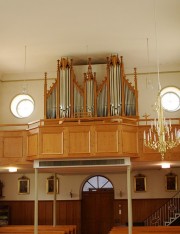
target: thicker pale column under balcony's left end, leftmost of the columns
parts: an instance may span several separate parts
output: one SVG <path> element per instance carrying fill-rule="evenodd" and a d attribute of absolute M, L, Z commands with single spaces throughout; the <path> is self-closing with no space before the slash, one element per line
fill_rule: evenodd
<path fill-rule="evenodd" d="M 35 168 L 34 234 L 38 234 L 38 169 Z"/>

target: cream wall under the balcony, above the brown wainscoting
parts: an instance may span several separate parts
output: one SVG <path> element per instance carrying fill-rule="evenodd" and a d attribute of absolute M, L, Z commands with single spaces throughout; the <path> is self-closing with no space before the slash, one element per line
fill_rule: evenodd
<path fill-rule="evenodd" d="M 176 192 L 167 192 L 165 189 L 165 175 L 173 172 L 178 176 L 178 189 L 180 188 L 180 170 L 173 169 L 159 169 L 148 171 L 133 171 L 131 174 L 132 182 L 132 198 L 146 199 L 146 198 L 170 198 Z M 147 179 L 146 192 L 134 192 L 134 176 L 137 174 L 144 174 Z M 53 174 L 39 173 L 38 175 L 38 198 L 39 200 L 53 200 L 52 194 L 46 193 L 46 179 Z M 18 194 L 18 178 L 22 174 L 18 173 L 4 173 L 0 174 L 0 180 L 3 181 L 5 187 L 3 189 L 3 200 L 34 200 L 34 174 L 25 174 L 30 179 L 30 194 Z M 57 175 L 59 178 L 60 193 L 57 195 L 57 200 L 79 200 L 81 199 L 82 186 L 90 175 Z M 127 199 L 126 187 L 126 172 L 119 174 L 102 174 L 106 176 L 113 184 L 115 191 L 115 199 Z M 70 197 L 72 191 L 73 197 Z M 121 191 L 121 195 L 120 195 Z"/>

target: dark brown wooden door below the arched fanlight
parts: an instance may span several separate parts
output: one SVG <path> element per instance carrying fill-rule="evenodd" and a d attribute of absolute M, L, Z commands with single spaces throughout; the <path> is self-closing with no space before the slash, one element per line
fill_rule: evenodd
<path fill-rule="evenodd" d="M 113 201 L 113 189 L 98 189 L 82 193 L 81 234 L 108 234 L 114 224 Z"/>

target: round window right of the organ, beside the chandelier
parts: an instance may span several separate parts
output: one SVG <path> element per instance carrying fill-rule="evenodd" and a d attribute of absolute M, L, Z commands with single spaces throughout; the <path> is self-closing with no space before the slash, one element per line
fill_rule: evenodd
<path fill-rule="evenodd" d="M 180 90 L 176 87 L 166 87 L 161 90 L 162 107 L 170 112 L 180 109 Z"/>

